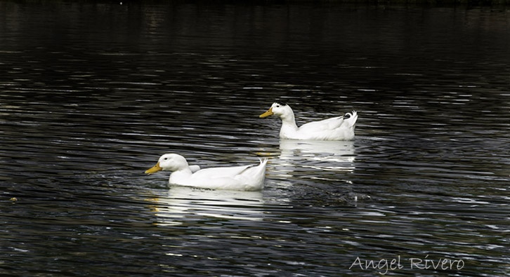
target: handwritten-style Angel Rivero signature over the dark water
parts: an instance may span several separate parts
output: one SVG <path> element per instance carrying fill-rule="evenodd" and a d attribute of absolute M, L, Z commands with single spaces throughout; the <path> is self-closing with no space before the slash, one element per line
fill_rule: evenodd
<path fill-rule="evenodd" d="M 360 257 L 356 257 L 349 269 L 361 269 L 363 271 L 375 269 L 379 274 L 386 275 L 389 271 L 404 269 L 406 267 L 407 269 L 459 271 L 464 268 L 464 265 L 462 259 L 429 259 L 429 255 L 426 255 L 424 258 L 411 257 L 400 259 L 400 255 L 398 255 L 393 259 L 360 259 Z"/>

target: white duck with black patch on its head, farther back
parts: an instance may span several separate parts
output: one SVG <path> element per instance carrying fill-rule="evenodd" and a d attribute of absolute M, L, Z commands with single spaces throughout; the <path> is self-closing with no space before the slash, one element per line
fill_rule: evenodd
<path fill-rule="evenodd" d="M 263 119 L 273 114 L 282 119 L 280 138 L 286 140 L 354 140 L 354 128 L 358 119 L 358 113 L 353 111 L 345 116 L 313 121 L 298 128 L 289 105 L 277 102 L 259 117 Z"/>

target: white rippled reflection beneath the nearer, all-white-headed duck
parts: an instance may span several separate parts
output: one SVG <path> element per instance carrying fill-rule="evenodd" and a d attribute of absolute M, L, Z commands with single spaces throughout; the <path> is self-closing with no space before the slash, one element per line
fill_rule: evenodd
<path fill-rule="evenodd" d="M 188 220 L 214 217 L 228 220 L 259 221 L 263 218 L 260 191 L 228 191 L 171 187 L 167 197 L 157 201 L 157 224 L 176 225 Z M 191 218 L 191 219 L 190 219 Z"/>

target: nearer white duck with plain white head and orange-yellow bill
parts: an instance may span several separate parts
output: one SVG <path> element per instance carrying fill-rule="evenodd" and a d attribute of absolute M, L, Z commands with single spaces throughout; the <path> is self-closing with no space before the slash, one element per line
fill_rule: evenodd
<path fill-rule="evenodd" d="M 264 186 L 268 159 L 261 159 L 259 165 L 242 165 L 221 168 L 198 169 L 188 165 L 188 161 L 178 154 L 164 154 L 156 165 L 145 173 L 157 173 L 159 170 L 173 171 L 169 184 L 202 189 L 230 189 L 235 191 L 259 191 Z"/>

